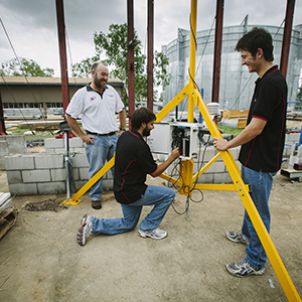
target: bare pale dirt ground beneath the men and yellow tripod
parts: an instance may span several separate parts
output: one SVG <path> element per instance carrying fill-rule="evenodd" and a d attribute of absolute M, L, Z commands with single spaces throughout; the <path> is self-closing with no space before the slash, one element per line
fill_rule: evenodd
<path fill-rule="evenodd" d="M 0 191 L 8 191 L 4 171 L 0 184 Z M 277 175 L 271 195 L 272 239 L 300 295 L 301 189 L 302 183 Z M 161 225 L 169 231 L 165 240 L 142 239 L 132 231 L 93 237 L 84 247 L 75 240 L 83 214 L 121 215 L 111 192 L 98 211 L 84 197 L 58 212 L 30 212 L 27 202 L 64 196 L 15 197 L 17 223 L 0 241 L 0 301 L 286 301 L 269 263 L 260 277 L 239 279 L 226 272 L 225 263 L 244 256 L 243 245 L 224 237 L 226 230 L 240 228 L 243 206 L 232 192 L 203 194 L 204 201 L 190 203 L 188 215 L 168 211 Z M 183 205 L 178 196 L 175 206 Z"/>

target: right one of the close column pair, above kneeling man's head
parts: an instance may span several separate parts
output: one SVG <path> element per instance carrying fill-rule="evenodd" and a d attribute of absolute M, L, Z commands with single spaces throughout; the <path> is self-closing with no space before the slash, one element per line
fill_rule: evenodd
<path fill-rule="evenodd" d="M 148 0 L 147 108 L 153 111 L 154 0 Z"/>

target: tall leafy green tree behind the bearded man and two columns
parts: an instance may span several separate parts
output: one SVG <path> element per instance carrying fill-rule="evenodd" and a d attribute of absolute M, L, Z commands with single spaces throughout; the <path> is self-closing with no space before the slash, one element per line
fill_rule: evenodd
<path fill-rule="evenodd" d="M 136 31 L 131 44 L 134 48 L 135 98 L 141 102 L 147 98 L 146 56 L 142 53 L 142 43 Z M 100 60 L 104 55 L 105 60 L 103 61 L 111 66 L 111 76 L 124 81 L 127 86 L 127 24 L 111 24 L 107 34 L 103 32 L 94 33 L 94 45 L 95 55 L 73 65 L 73 76 L 88 76 L 92 63 Z M 167 75 L 169 62 L 161 52 L 155 52 L 154 61 L 154 90 L 156 92 L 156 87 L 169 83 Z M 154 97 L 156 99 L 157 96 Z M 125 99 L 128 99 L 127 96 L 125 96 Z"/>

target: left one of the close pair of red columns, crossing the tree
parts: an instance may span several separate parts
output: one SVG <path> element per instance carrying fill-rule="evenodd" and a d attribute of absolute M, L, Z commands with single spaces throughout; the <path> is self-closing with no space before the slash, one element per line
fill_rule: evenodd
<path fill-rule="evenodd" d="M 134 111 L 134 18 L 133 18 L 133 0 L 127 2 L 127 22 L 128 22 L 128 115 L 131 117 Z"/>

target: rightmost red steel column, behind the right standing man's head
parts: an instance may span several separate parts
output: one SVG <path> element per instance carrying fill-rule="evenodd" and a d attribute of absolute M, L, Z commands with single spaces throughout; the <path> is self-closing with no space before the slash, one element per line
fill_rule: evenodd
<path fill-rule="evenodd" d="M 290 40 L 292 34 L 294 10 L 295 10 L 295 0 L 287 0 L 285 25 L 284 25 L 283 41 L 282 41 L 282 52 L 281 52 L 281 60 L 280 60 L 281 61 L 280 70 L 285 78 L 287 74 L 287 64 L 288 64 Z"/>

